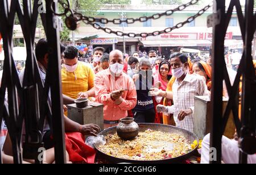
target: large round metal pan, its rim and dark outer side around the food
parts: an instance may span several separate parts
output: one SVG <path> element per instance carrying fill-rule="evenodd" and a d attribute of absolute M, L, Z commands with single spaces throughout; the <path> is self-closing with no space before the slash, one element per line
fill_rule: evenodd
<path fill-rule="evenodd" d="M 186 139 L 188 139 L 191 143 L 193 143 L 194 140 L 197 140 L 197 143 L 199 143 L 199 139 L 195 134 L 192 132 L 189 132 L 187 130 L 184 130 L 182 128 L 177 128 L 174 126 L 164 125 L 164 124 L 155 124 L 155 123 L 138 123 L 139 124 L 139 131 L 143 132 L 148 129 L 155 130 L 155 131 L 163 131 L 163 132 L 169 132 L 172 134 L 179 134 L 181 136 L 184 136 Z M 114 135 L 116 132 L 117 127 L 108 128 L 104 131 L 101 131 L 98 135 L 107 136 L 108 134 Z M 193 149 L 191 152 L 171 158 L 171 159 L 163 159 L 163 160 L 152 160 L 152 161 L 143 161 L 143 160 L 128 160 L 128 159 L 120 159 L 117 157 L 106 155 L 104 152 L 101 152 L 100 149 L 97 148 L 97 145 L 94 145 L 97 149 L 98 156 L 102 157 L 103 159 L 106 159 L 109 163 L 147 163 L 147 164 L 158 164 L 158 163 L 181 163 L 181 161 L 186 160 L 188 157 L 190 157 L 195 149 Z"/>

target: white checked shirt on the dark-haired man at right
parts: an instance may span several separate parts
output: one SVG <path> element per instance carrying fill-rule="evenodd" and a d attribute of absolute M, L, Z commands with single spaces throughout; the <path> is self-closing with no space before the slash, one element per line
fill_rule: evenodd
<path fill-rule="evenodd" d="M 196 74 L 187 74 L 179 84 L 176 80 L 172 85 L 174 93 L 174 105 L 168 106 L 168 114 L 174 114 L 176 126 L 193 132 L 193 116 L 185 116 L 184 120 L 177 119 L 180 110 L 191 109 L 194 113 L 195 95 L 209 95 L 204 77 Z"/>

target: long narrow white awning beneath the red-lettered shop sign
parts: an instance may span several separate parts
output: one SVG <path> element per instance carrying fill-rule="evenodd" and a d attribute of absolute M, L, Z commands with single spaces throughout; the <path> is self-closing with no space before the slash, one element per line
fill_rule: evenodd
<path fill-rule="evenodd" d="M 141 40 L 144 47 L 210 46 L 209 40 Z"/>

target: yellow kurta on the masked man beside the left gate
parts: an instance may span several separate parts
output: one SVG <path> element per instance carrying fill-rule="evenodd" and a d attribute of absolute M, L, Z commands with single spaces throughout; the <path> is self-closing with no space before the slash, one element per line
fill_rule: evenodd
<path fill-rule="evenodd" d="M 77 63 L 75 72 L 68 72 L 65 66 L 61 69 L 62 92 L 68 97 L 77 98 L 77 94 L 94 86 L 94 72 L 84 62 Z"/>

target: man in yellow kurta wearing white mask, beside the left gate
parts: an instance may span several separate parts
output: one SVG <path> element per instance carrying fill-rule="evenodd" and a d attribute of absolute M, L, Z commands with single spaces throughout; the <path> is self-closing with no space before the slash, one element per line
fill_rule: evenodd
<path fill-rule="evenodd" d="M 76 99 L 79 93 L 86 97 L 94 95 L 94 72 L 84 62 L 78 61 L 76 47 L 68 46 L 64 52 L 64 64 L 61 69 L 63 94 Z"/>

